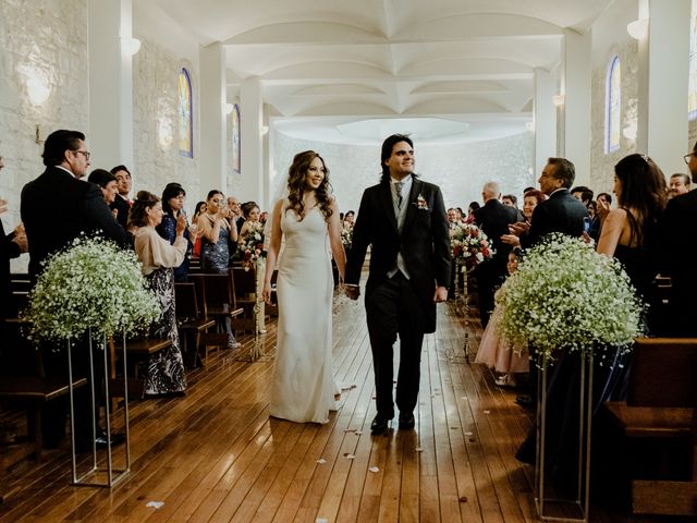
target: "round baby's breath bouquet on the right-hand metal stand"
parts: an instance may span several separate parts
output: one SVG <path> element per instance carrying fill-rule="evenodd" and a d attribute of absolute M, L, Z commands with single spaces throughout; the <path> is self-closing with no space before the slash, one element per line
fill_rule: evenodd
<path fill-rule="evenodd" d="M 535 348 L 540 367 L 560 350 L 628 352 L 641 333 L 644 305 L 621 264 L 559 233 L 526 254 L 497 303 L 503 338 Z"/>

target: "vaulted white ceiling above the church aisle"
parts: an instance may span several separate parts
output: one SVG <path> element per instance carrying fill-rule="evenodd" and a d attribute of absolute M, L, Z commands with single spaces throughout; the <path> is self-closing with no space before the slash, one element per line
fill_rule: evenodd
<path fill-rule="evenodd" d="M 346 123 L 376 118 L 428 122 L 426 134 L 433 119 L 460 122 L 453 130 L 467 139 L 524 131 L 535 69 L 554 68 L 564 29 L 586 32 L 610 3 L 136 0 L 134 9 L 136 31 L 160 41 L 222 42 L 229 96 L 258 77 L 286 132 L 341 142 Z"/>

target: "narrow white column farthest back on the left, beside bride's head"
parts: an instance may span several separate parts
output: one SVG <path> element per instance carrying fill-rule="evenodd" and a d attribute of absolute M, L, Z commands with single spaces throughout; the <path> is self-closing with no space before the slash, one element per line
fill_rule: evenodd
<path fill-rule="evenodd" d="M 241 200 L 265 202 L 262 109 L 264 98 L 259 78 L 243 81 L 240 86 Z"/>

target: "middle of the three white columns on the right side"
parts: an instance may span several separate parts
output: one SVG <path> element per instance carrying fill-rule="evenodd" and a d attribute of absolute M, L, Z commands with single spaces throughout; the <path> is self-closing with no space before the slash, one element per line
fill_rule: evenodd
<path fill-rule="evenodd" d="M 561 111 L 563 141 L 560 155 L 576 167 L 575 185 L 590 183 L 590 32 L 580 35 L 573 29 L 564 29 L 564 109 Z"/>

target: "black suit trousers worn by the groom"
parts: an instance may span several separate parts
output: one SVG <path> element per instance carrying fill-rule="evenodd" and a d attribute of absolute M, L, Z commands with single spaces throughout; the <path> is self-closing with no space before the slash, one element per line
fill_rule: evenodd
<path fill-rule="evenodd" d="M 378 414 L 388 419 L 394 416 L 392 345 L 398 335 L 396 405 L 400 412 L 412 413 L 418 397 L 424 341 L 424 311 L 412 283 L 401 272 L 391 279 L 386 278 L 366 294 L 366 313 Z"/>

